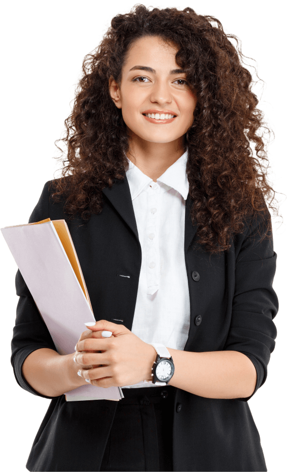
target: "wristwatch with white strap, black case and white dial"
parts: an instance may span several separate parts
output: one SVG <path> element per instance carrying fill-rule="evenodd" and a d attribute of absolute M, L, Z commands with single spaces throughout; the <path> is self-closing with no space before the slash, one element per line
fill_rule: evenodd
<path fill-rule="evenodd" d="M 159 343 L 148 343 L 157 351 L 157 357 L 152 367 L 153 381 L 150 384 L 167 385 L 174 374 L 174 363 L 166 347 Z"/>

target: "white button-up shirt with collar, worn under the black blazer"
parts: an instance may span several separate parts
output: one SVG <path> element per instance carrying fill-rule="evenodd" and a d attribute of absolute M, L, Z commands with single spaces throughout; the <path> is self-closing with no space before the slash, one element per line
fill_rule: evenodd
<path fill-rule="evenodd" d="M 126 171 L 142 254 L 131 332 L 145 343 L 179 350 L 184 349 L 190 323 L 184 260 L 186 161 L 187 152 L 157 182 L 130 160 Z M 159 385 L 142 381 L 122 388 L 139 387 Z"/>

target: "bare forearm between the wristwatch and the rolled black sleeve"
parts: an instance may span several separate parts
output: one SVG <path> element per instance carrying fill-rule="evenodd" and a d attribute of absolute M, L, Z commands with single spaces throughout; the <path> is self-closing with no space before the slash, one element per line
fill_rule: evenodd
<path fill-rule="evenodd" d="M 175 367 L 169 385 L 206 398 L 246 398 L 254 392 L 256 369 L 241 352 L 167 349 Z"/>

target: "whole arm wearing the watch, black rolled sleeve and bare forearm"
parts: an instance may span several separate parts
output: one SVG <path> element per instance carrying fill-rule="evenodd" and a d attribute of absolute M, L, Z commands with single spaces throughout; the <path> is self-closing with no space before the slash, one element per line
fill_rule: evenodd
<path fill-rule="evenodd" d="M 263 203 L 267 210 L 264 199 Z M 259 220 L 263 231 L 259 231 L 255 214 L 245 232 L 237 237 L 232 313 L 224 350 L 187 352 L 167 347 L 175 365 L 170 385 L 206 398 L 246 399 L 253 395 L 257 382 L 260 388 L 266 381 L 277 336 L 273 319 L 279 309 L 273 289 L 277 254 L 270 214 L 266 213 L 265 220 Z M 262 241 L 267 233 L 270 239 Z M 232 265 L 232 255 L 228 257 Z M 256 368 L 240 351 L 254 358 Z"/>

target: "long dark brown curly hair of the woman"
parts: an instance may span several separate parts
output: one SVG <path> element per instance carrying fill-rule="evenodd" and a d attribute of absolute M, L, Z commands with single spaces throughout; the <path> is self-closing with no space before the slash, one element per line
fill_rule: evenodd
<path fill-rule="evenodd" d="M 226 33 L 216 17 L 190 7 L 150 9 L 140 3 L 112 16 L 98 46 L 84 56 L 74 104 L 64 121 L 67 135 L 54 141 L 68 143 L 63 158 L 53 157 L 68 164 L 61 169 L 61 178 L 54 176 L 51 182 L 52 198 L 59 202 L 65 197 L 65 212 L 79 214 L 86 222 L 102 211 L 103 188 L 125 178 L 129 139 L 121 109 L 111 99 L 109 79 L 120 87 L 129 50 L 145 36 L 177 46 L 175 61 L 197 97 L 185 149 L 189 196 L 194 202 L 190 217 L 198 224 L 198 244 L 213 254 L 228 250 L 232 237 L 243 232 L 244 221 L 254 212 L 268 220 L 263 237 L 271 237 L 268 208 L 282 218 L 264 201 L 272 196 L 272 203 L 275 180 L 271 186 L 266 166 L 257 158 L 269 166 L 274 125 L 265 122 L 267 115 L 259 108 L 262 101 L 252 90 L 258 82 L 266 82 L 257 72 L 253 80 L 241 40 L 240 49 L 234 45 L 237 35 Z M 269 132 L 267 141 L 258 133 L 263 129 Z"/>

